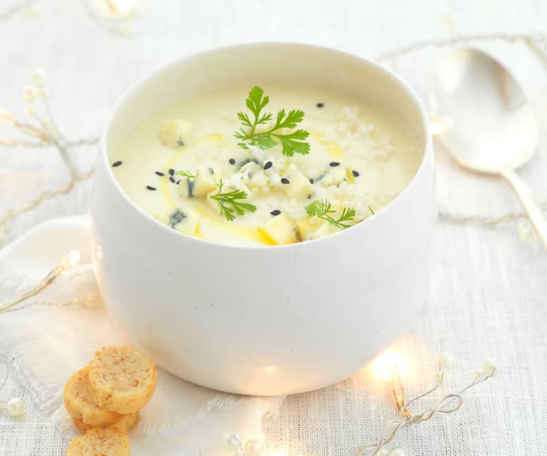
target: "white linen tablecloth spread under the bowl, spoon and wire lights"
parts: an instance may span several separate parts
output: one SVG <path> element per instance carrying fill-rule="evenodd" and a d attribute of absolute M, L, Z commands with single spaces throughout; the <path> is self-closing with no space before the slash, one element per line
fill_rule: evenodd
<path fill-rule="evenodd" d="M 374 57 L 422 39 L 446 38 L 444 14 L 461 34 L 546 31 L 547 4 L 536 1 L 145 1 L 140 31 L 126 38 L 91 19 L 83 1 L 39 1 L 36 16 L 1 13 L 0 106 L 21 113 L 22 86 L 43 68 L 54 116 L 68 138 L 98 136 L 113 101 L 138 76 L 183 54 L 242 41 L 303 41 Z M 543 128 L 538 154 L 519 173 L 547 200 L 547 71 L 520 44 L 486 46 L 526 88 Z M 397 71 L 427 95 L 438 51 L 397 62 Z M 0 137 L 9 130 L 0 126 Z M 78 164 L 95 148 L 78 149 Z M 517 211 L 516 198 L 494 178 L 471 176 L 436 148 L 439 201 L 454 213 L 498 216 Z M 0 215 L 67 180 L 56 151 L 0 148 Z M 40 221 L 88 211 L 91 182 L 21 216 L 9 240 Z M 409 455 L 544 455 L 547 447 L 547 253 L 524 243 L 514 225 L 484 228 L 439 222 L 429 298 L 394 345 L 406 355 L 408 395 L 431 384 L 434 356 L 454 354 L 449 383 L 457 390 L 485 358 L 499 375 L 469 392 L 462 410 L 435 417 L 397 437 Z M 0 316 L 1 318 L 1 316 Z M 0 334 L 1 338 L 1 334 Z M 0 353 L 1 355 L 1 353 Z M 1 369 L 1 367 L 0 367 Z M 0 372 L 0 376 L 2 373 Z M 23 420 L 0 412 L 0 455 L 62 455 L 66 440 L 33 405 L 16 378 L 0 400 L 23 397 Z M 394 416 L 385 380 L 365 368 L 339 385 L 287 397 L 263 421 L 267 452 L 290 456 L 352 455 L 375 440 Z M 242 436 L 250 438 L 252 436 Z M 228 454 L 228 453 L 227 453 Z"/>

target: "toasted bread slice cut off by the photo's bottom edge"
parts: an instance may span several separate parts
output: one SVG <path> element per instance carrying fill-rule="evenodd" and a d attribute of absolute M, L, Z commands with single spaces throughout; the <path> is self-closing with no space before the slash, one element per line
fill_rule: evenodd
<path fill-rule="evenodd" d="M 129 437 L 111 427 L 97 427 L 76 437 L 66 449 L 66 456 L 129 456 Z"/>

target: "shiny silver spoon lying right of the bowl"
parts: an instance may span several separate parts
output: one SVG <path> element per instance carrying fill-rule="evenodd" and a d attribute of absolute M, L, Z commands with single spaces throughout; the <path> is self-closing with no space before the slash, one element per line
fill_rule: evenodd
<path fill-rule="evenodd" d="M 439 62 L 431 101 L 453 122 L 439 135 L 451 155 L 472 171 L 506 178 L 547 249 L 547 221 L 514 171 L 532 158 L 538 123 L 511 73 L 482 51 L 454 49 Z"/>

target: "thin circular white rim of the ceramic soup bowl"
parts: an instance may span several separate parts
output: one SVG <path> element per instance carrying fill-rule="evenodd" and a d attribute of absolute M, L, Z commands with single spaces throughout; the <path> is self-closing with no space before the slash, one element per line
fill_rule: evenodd
<path fill-rule="evenodd" d="M 351 226 L 345 230 L 340 230 L 337 233 L 332 233 L 327 236 L 323 236 L 322 238 L 317 239 L 311 239 L 306 240 L 305 242 L 298 242 L 298 243 L 292 243 L 292 244 L 281 244 L 281 245 L 245 245 L 245 244 L 232 244 L 227 243 L 224 241 L 218 241 L 218 240 L 208 240 L 208 239 L 202 239 L 197 238 L 192 235 L 188 235 L 185 233 L 180 233 L 177 230 L 173 230 L 172 228 L 166 226 L 164 223 L 161 223 L 158 220 L 155 220 L 152 216 L 150 216 L 148 213 L 145 213 L 140 206 L 138 206 L 128 195 L 125 191 L 123 191 L 123 188 L 121 187 L 120 183 L 116 179 L 116 176 L 114 176 L 113 170 L 110 166 L 110 162 L 108 161 L 108 153 L 107 153 L 107 147 L 106 147 L 106 138 L 108 136 L 109 131 L 111 130 L 111 125 L 113 118 L 116 116 L 116 113 L 120 109 L 120 107 L 123 105 L 123 103 L 126 102 L 126 100 L 136 91 L 140 86 L 143 85 L 148 79 L 152 78 L 153 76 L 156 76 L 158 74 L 163 73 L 164 71 L 170 71 L 175 66 L 179 66 L 181 64 L 184 64 L 185 61 L 190 61 L 191 59 L 198 58 L 200 56 L 206 55 L 206 54 L 218 54 L 219 52 L 223 51 L 231 51 L 233 49 L 256 49 L 260 47 L 283 47 L 283 46 L 297 46 L 300 48 L 308 48 L 308 49 L 315 49 L 318 51 L 326 51 L 327 53 L 331 54 L 339 54 L 340 56 L 347 58 L 347 59 L 354 59 L 357 61 L 362 61 L 365 64 L 372 66 L 377 71 L 381 72 L 383 76 L 387 76 L 387 78 L 391 78 L 393 81 L 399 84 L 404 91 L 407 92 L 409 97 L 411 98 L 411 101 L 414 103 L 414 106 L 418 108 L 420 117 L 421 117 L 421 125 L 423 126 L 423 133 L 424 133 L 424 146 L 421 150 L 422 156 L 421 156 L 421 162 L 414 173 L 414 176 L 412 176 L 411 180 L 403 188 L 401 193 L 399 193 L 392 201 L 387 203 L 386 206 L 384 206 L 380 211 L 378 211 L 376 214 L 374 214 L 373 217 L 366 218 L 364 221 L 361 221 L 354 226 Z M 340 236 L 344 236 L 344 233 L 354 231 L 357 229 L 363 229 L 366 226 L 371 226 L 374 223 L 379 223 L 378 218 L 382 219 L 386 213 L 391 213 L 394 211 L 394 207 L 396 207 L 399 203 L 399 201 L 402 199 L 402 196 L 410 191 L 412 187 L 416 185 L 416 181 L 418 180 L 418 176 L 423 174 L 424 168 L 426 168 L 426 163 L 431 160 L 432 158 L 432 137 L 431 137 L 431 126 L 429 122 L 429 114 L 426 111 L 426 108 L 424 106 L 424 102 L 419 97 L 418 93 L 410 86 L 410 84 L 405 81 L 401 76 L 394 73 L 394 71 L 388 69 L 387 67 L 383 66 L 382 64 L 377 63 L 376 61 L 372 59 L 367 59 L 366 57 L 359 56 L 357 54 L 354 54 L 349 51 L 342 51 L 340 49 L 336 49 L 334 47 L 329 46 L 320 46 L 317 44 L 307 44 L 307 43 L 300 43 L 297 41 L 252 41 L 248 43 L 239 43 L 239 44 L 230 44 L 228 46 L 216 46 L 208 49 L 202 49 L 200 51 L 195 51 L 190 54 L 186 54 L 184 56 L 178 57 L 177 59 L 173 59 L 169 61 L 166 64 L 162 64 L 155 69 L 152 69 L 148 72 L 146 72 L 143 76 L 140 76 L 136 79 L 136 81 L 133 81 L 126 89 L 123 91 L 121 96 L 119 96 L 116 99 L 116 102 L 111 107 L 107 121 L 105 123 L 105 126 L 103 127 L 103 131 L 101 133 L 101 137 L 98 143 L 98 161 L 102 161 L 103 166 L 106 168 L 106 176 L 108 176 L 108 179 L 113 183 L 113 186 L 116 187 L 116 190 L 118 193 L 121 194 L 123 201 L 128 204 L 129 207 L 133 208 L 134 211 L 136 211 L 140 216 L 143 217 L 144 221 L 152 222 L 154 226 L 159 227 L 159 229 L 165 230 L 166 233 L 171 233 L 171 235 L 175 235 L 176 238 L 182 238 L 185 240 L 193 240 L 198 243 L 204 243 L 208 245 L 213 245 L 217 248 L 230 248 L 230 249 L 236 249 L 236 250 L 282 250 L 282 249 L 297 249 L 297 248 L 307 248 L 305 246 L 308 245 L 317 245 L 318 243 L 326 243 L 329 241 L 332 241 L 334 239 L 339 238 Z M 431 156 L 431 157 L 430 157 Z"/>

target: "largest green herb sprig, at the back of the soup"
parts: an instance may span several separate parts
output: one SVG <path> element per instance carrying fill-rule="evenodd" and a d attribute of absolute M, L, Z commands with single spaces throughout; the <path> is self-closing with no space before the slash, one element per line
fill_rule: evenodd
<path fill-rule="evenodd" d="M 266 150 L 277 146 L 277 141 L 279 141 L 282 146 L 282 153 L 287 157 L 292 157 L 295 153 L 304 155 L 310 153 L 310 144 L 304 142 L 310 136 L 309 132 L 300 129 L 287 134 L 276 133 L 281 128 L 295 128 L 297 123 L 300 123 L 304 118 L 304 111 L 300 109 L 292 109 L 288 113 L 285 113 L 285 109 L 282 109 L 277 113 L 275 125 L 272 128 L 267 131 L 256 131 L 257 126 L 264 125 L 273 118 L 272 113 L 262 113 L 262 109 L 269 102 L 270 97 L 264 95 L 262 87 L 254 86 L 251 89 L 245 104 L 252 112 L 254 119 L 251 121 L 247 113 L 237 113 L 237 118 L 242 123 L 240 131 L 235 133 L 235 137 L 242 140 L 237 145 L 244 149 L 248 149 L 249 145 L 252 145 Z M 276 139 L 277 141 L 275 141 Z"/>

